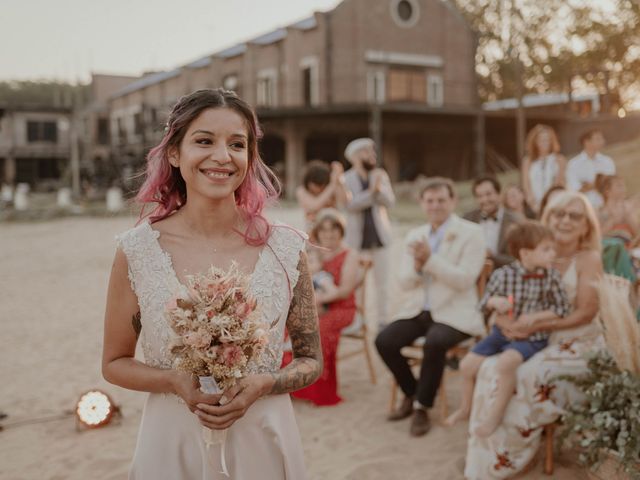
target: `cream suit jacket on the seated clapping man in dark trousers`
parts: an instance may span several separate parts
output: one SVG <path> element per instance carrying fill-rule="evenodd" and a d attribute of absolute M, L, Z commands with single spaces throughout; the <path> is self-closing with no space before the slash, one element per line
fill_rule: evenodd
<path fill-rule="evenodd" d="M 482 228 L 457 215 L 436 253 L 432 253 L 420 273 L 413 268 L 409 244 L 426 239 L 429 224 L 411 230 L 405 239 L 399 280 L 411 295 L 394 317 L 413 318 L 422 310 L 427 298 L 431 317 L 469 335 L 484 335 L 482 314 L 478 310 L 476 281 L 484 265 L 486 246 Z"/>

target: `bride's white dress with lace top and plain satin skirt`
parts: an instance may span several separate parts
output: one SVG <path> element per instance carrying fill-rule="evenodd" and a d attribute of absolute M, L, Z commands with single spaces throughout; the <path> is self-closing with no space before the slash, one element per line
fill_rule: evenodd
<path fill-rule="evenodd" d="M 118 246 L 129 264 L 129 279 L 138 296 L 140 342 L 147 365 L 171 368 L 170 328 L 164 306 L 180 288 L 171 257 L 158 242 L 160 233 L 149 223 L 119 235 Z M 270 343 L 253 371 L 280 368 L 284 328 L 304 239 L 296 231 L 275 225 L 262 249 L 250 288 L 264 321 L 271 325 Z M 304 479 L 302 444 L 289 395 L 259 399 L 228 430 L 225 459 L 230 478 Z M 223 479 L 220 445 L 207 448 L 202 425 L 172 394 L 149 394 L 130 471 L 131 479 Z"/>

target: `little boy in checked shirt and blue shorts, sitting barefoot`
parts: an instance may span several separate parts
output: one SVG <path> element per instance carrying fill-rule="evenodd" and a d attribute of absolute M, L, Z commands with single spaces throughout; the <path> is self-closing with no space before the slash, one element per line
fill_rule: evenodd
<path fill-rule="evenodd" d="M 509 230 L 507 242 L 518 260 L 493 272 L 480 300 L 480 309 L 515 318 L 526 315 L 531 325 L 566 317 L 571 305 L 560 274 L 551 268 L 556 254 L 551 230 L 537 222 L 527 221 Z M 475 433 L 487 437 L 502 422 L 504 410 L 513 396 L 518 367 L 545 348 L 549 339 L 547 331 L 535 332 L 522 340 L 514 340 L 507 336 L 508 333 L 508 328 L 494 325 L 491 333 L 462 359 L 462 405 L 449 416 L 445 422 L 447 425 L 469 418 L 476 374 L 482 362 L 493 355 L 498 355 L 496 391 L 491 398 L 489 415 Z"/>

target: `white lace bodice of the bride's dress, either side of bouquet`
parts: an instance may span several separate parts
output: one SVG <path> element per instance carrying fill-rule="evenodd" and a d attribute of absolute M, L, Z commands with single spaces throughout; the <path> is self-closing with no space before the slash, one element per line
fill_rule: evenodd
<path fill-rule="evenodd" d="M 138 297 L 142 332 L 140 342 L 147 365 L 171 368 L 171 328 L 164 317 L 165 305 L 183 288 L 171 256 L 158 243 L 160 232 L 144 222 L 116 237 L 129 265 L 129 280 Z M 304 234 L 275 224 L 251 275 L 250 289 L 262 319 L 272 325 L 269 345 L 249 372 L 276 371 L 282 361 L 284 328 L 293 289 L 298 281 L 298 260 L 304 248 Z"/>

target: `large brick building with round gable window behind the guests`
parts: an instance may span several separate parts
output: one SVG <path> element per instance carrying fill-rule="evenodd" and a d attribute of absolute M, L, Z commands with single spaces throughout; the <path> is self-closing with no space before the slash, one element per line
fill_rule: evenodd
<path fill-rule="evenodd" d="M 371 136 L 393 180 L 472 175 L 484 156 L 475 37 L 442 0 L 344 0 L 333 10 L 148 75 L 110 101 L 112 149 L 139 164 L 175 101 L 223 86 L 256 106 L 265 161 L 293 192 L 306 161 Z"/>

